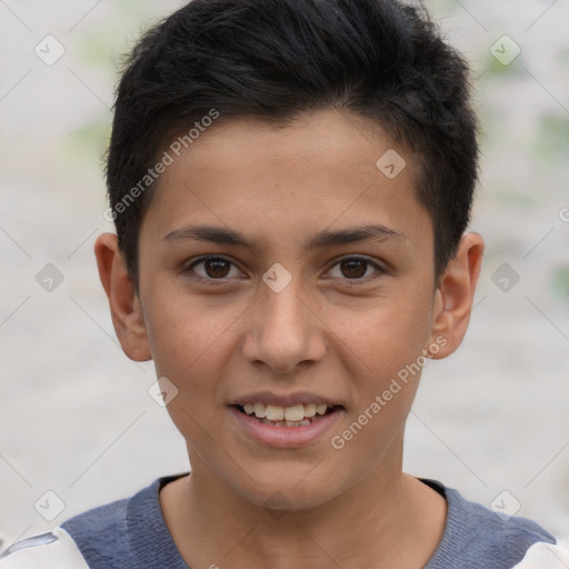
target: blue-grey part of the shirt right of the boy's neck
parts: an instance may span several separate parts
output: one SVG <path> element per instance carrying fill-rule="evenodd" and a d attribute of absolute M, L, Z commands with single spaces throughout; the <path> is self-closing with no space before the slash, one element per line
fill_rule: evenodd
<path fill-rule="evenodd" d="M 429 482 L 443 491 L 448 513 L 442 539 L 428 569 L 511 569 L 532 547 L 556 546 L 556 538 L 535 521 L 497 513 L 452 488 Z"/>

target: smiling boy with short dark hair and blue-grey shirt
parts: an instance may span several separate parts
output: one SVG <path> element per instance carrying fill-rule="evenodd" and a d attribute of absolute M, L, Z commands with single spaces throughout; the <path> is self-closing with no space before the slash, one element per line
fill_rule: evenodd
<path fill-rule="evenodd" d="M 555 538 L 401 471 L 483 241 L 468 68 L 392 0 L 196 0 L 117 94 L 99 273 L 191 473 L 12 546 L 2 569 L 510 568 Z"/>

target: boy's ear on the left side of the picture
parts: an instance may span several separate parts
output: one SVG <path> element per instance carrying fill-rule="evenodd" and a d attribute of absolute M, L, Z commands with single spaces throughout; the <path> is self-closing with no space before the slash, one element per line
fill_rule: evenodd
<path fill-rule="evenodd" d="M 124 353 L 134 361 L 152 359 L 142 305 L 127 271 L 114 233 L 103 233 L 94 242 L 99 278 L 111 309 L 112 325 Z"/>

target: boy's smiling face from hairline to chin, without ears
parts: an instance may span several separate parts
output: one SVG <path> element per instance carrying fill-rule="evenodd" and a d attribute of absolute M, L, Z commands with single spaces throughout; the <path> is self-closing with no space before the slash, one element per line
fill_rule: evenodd
<path fill-rule="evenodd" d="M 400 475 L 418 368 L 440 339 L 412 157 L 396 148 L 395 178 L 376 164 L 393 148 L 337 111 L 243 119 L 162 174 L 139 300 L 197 480 L 307 508 Z"/>

